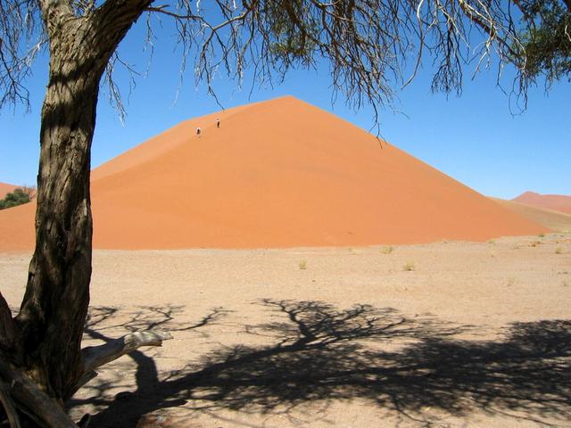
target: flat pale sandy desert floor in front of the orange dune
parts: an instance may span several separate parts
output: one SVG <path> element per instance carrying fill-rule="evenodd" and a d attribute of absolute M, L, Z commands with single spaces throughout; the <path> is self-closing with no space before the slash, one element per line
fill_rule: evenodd
<path fill-rule="evenodd" d="M 0 254 L 14 307 L 28 262 Z M 95 427 L 571 426 L 569 234 L 95 251 L 91 303 L 86 344 L 173 335 L 76 394 Z"/>

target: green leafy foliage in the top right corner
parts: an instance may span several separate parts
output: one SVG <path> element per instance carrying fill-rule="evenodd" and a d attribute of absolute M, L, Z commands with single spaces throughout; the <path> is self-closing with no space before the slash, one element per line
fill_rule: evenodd
<path fill-rule="evenodd" d="M 528 78 L 549 82 L 571 78 L 571 10 L 559 0 L 526 0 L 520 6 L 525 30 L 519 34 Z"/>

